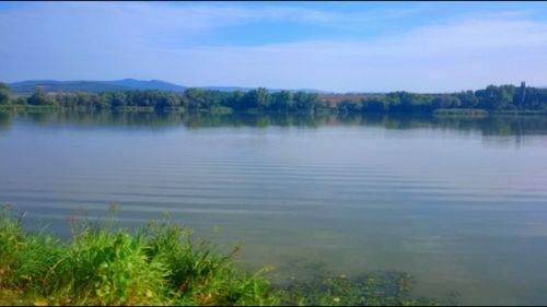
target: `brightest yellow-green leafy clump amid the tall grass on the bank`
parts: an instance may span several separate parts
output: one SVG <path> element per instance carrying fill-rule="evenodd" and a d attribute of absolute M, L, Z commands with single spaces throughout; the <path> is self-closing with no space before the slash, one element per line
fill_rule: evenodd
<path fill-rule="evenodd" d="M 144 248 L 140 237 L 125 231 L 85 227 L 59 259 L 45 294 L 94 297 L 89 303 L 98 305 L 158 304 L 167 272 L 146 257 Z"/>

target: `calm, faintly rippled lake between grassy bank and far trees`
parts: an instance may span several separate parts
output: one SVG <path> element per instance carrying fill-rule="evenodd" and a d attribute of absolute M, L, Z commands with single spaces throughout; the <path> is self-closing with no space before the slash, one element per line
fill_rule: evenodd
<path fill-rule="evenodd" d="M 165 212 L 282 281 L 398 270 L 461 304 L 547 304 L 547 117 L 0 114 L 0 203 Z"/>

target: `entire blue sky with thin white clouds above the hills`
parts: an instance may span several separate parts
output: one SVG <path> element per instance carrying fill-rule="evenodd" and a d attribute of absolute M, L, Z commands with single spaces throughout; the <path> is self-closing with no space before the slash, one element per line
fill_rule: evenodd
<path fill-rule="evenodd" d="M 0 80 L 337 92 L 547 85 L 542 2 L 0 2 Z"/>

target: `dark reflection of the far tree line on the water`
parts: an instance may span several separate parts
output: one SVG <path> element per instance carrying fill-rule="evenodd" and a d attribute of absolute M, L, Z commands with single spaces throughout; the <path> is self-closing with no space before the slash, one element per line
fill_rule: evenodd
<path fill-rule="evenodd" d="M 119 126 L 188 129 L 221 127 L 302 127 L 364 126 L 385 129 L 447 129 L 480 131 L 485 135 L 547 134 L 547 117 L 496 115 L 484 117 L 404 114 L 211 114 L 211 113 L 112 113 L 49 111 L 0 113 L 0 130 L 9 129 L 15 117 L 36 123 L 67 123 L 74 127 Z"/>

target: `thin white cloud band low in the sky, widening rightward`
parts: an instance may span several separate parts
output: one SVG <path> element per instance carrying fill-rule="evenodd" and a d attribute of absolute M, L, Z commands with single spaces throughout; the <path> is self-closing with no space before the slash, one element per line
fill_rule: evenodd
<path fill-rule="evenodd" d="M 371 40 L 162 51 L 193 59 L 179 66 L 193 72 L 196 85 L 210 83 L 213 73 L 223 84 L 337 91 L 455 91 L 521 80 L 540 85 L 547 23 L 472 19 Z"/>

